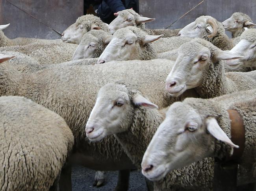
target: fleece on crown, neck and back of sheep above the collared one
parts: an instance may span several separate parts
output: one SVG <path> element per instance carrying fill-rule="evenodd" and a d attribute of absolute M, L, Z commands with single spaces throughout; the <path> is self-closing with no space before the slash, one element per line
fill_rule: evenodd
<path fill-rule="evenodd" d="M 212 55 L 215 55 L 215 52 L 218 51 L 217 47 L 199 38 L 193 40 L 193 42 L 198 42 L 207 47 Z M 195 44 L 193 48 L 196 50 L 197 45 Z M 256 71 L 225 73 L 222 62 L 213 63 L 210 59 L 208 67 L 203 71 L 201 85 L 195 89 L 201 98 L 213 98 L 236 91 L 254 89 L 255 85 Z"/>

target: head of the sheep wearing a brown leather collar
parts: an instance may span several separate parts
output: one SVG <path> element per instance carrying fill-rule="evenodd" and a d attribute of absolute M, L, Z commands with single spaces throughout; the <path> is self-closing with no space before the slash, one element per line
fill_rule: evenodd
<path fill-rule="evenodd" d="M 219 117 L 218 112 L 210 100 L 187 98 L 172 104 L 143 156 L 143 175 L 157 181 L 169 171 L 214 156 L 217 140 L 232 152 L 237 146 L 220 126 L 229 125 L 228 113 Z"/>

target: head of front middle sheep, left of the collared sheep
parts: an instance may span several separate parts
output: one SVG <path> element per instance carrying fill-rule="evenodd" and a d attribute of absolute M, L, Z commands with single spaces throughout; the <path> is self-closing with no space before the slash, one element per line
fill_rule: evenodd
<path fill-rule="evenodd" d="M 86 136 L 99 141 L 105 136 L 127 131 L 133 121 L 135 106 L 157 108 L 141 93 L 124 83 L 106 84 L 100 88 L 95 106 L 86 124 Z"/>

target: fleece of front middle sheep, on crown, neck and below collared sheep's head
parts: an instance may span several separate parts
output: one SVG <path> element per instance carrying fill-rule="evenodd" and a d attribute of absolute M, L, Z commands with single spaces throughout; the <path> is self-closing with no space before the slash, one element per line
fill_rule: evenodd
<path fill-rule="evenodd" d="M 134 85 L 122 84 L 126 85 L 130 100 L 137 93 L 143 95 Z M 166 108 L 163 110 L 166 110 Z M 139 169 L 150 140 L 165 118 L 165 115 L 161 113 L 156 109 L 134 106 L 130 115 L 127 116 L 131 121 L 129 129 L 115 134 L 126 154 Z M 127 124 L 124 124 L 124 126 L 127 126 Z M 211 190 L 213 164 L 213 159 L 210 158 L 171 171 L 163 180 L 156 182 L 154 190 Z"/>

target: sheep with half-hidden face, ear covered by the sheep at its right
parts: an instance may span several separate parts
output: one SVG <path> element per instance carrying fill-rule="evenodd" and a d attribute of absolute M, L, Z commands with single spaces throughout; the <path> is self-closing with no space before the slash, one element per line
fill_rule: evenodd
<path fill-rule="evenodd" d="M 106 38 L 108 33 L 103 30 L 91 30 L 83 35 L 72 60 L 82 58 L 97 58 L 106 48 Z"/>

